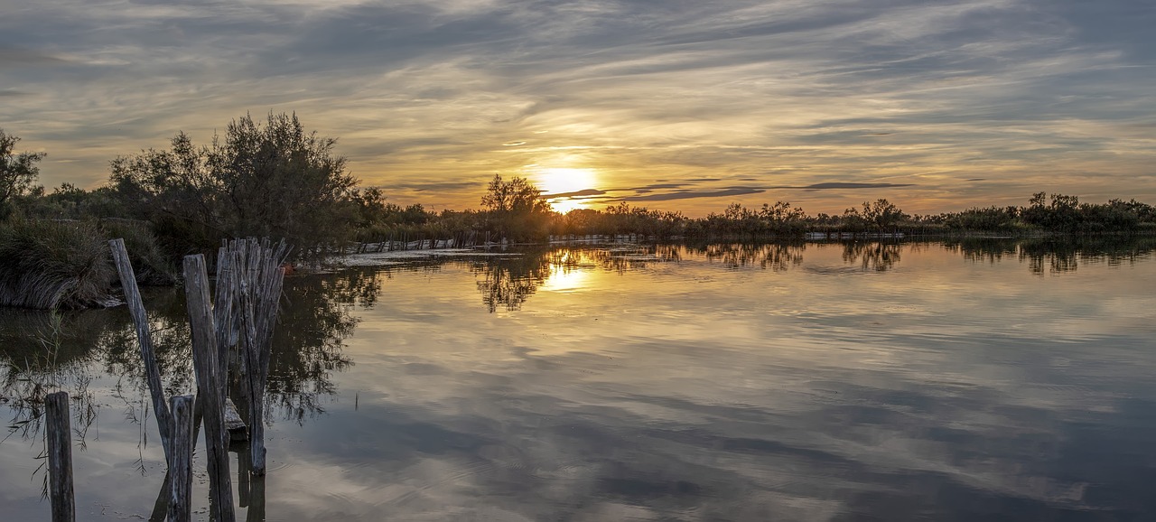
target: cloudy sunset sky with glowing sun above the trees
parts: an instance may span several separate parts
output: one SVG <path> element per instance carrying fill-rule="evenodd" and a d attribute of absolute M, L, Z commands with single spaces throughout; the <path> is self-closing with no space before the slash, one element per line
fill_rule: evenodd
<path fill-rule="evenodd" d="M 295 112 L 391 202 L 1156 203 L 1150 0 L 0 0 L 40 182 Z"/>

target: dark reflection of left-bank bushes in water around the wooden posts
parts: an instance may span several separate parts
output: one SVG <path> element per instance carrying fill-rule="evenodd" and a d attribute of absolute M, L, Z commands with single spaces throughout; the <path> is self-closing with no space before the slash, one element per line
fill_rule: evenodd
<path fill-rule="evenodd" d="M 372 306 L 380 284 L 378 275 L 366 271 L 286 281 L 290 297 L 274 334 L 267 422 L 281 417 L 301 423 L 324 411 L 321 397 L 336 393 L 332 373 L 353 365 L 342 353 L 344 338 L 357 325 L 351 308 Z M 144 301 L 165 395 L 193 393 L 184 293 L 149 289 Z M 127 308 L 59 314 L 0 308 L 0 405 L 9 410 L 7 425 L 17 426 L 7 435 L 38 437 L 44 396 L 57 390 L 69 391 L 82 427 L 91 424 L 99 407 L 87 385 L 99 374 L 116 378 L 112 393 L 128 418 L 149 418 L 144 368 Z"/>

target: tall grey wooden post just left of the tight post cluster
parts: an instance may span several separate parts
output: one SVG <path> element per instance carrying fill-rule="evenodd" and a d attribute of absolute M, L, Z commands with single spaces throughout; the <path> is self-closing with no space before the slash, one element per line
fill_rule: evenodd
<path fill-rule="evenodd" d="M 208 452 L 210 519 L 235 522 L 232 478 L 229 473 L 229 448 L 224 431 L 224 376 L 217 360 L 217 337 L 209 300 L 209 281 L 205 256 L 185 256 L 185 299 L 188 327 L 193 341 L 193 367 L 197 389 L 205 397 L 205 446 Z"/>

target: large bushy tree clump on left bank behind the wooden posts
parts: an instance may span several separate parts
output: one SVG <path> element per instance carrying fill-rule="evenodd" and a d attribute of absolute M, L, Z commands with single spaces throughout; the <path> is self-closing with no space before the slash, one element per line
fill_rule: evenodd
<path fill-rule="evenodd" d="M 118 157 L 110 181 L 173 254 L 247 236 L 283 238 L 305 254 L 349 239 L 358 218 L 357 180 L 335 143 L 306 133 L 296 114 L 269 113 L 264 125 L 246 114 L 209 147 L 180 133 L 169 150 Z"/>

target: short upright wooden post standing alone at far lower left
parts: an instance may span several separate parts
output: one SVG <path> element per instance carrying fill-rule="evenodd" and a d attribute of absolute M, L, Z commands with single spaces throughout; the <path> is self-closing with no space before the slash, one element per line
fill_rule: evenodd
<path fill-rule="evenodd" d="M 49 430 L 49 497 L 52 522 L 76 520 L 76 500 L 72 484 L 72 423 L 68 418 L 68 393 L 57 391 L 44 397 Z"/>

